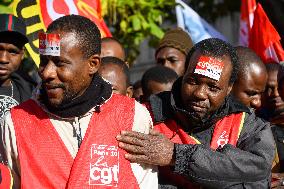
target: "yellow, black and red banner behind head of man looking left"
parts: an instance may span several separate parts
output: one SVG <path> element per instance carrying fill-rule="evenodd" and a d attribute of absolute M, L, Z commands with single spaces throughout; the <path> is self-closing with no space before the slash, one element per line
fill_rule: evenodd
<path fill-rule="evenodd" d="M 102 16 L 100 0 L 15 0 L 14 15 L 23 19 L 27 25 L 26 45 L 28 52 L 39 65 L 38 34 L 45 32 L 47 26 L 64 15 L 82 15 L 97 24 L 102 37 L 111 36 Z"/>

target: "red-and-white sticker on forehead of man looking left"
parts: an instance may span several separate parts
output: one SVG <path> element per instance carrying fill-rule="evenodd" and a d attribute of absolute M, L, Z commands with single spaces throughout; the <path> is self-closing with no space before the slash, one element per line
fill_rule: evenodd
<path fill-rule="evenodd" d="M 60 36 L 56 33 L 39 33 L 39 54 L 60 56 Z"/>

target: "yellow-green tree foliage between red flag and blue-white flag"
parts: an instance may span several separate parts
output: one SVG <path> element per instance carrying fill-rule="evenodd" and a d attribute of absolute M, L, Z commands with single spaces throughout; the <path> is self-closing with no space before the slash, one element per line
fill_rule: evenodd
<path fill-rule="evenodd" d="M 139 54 L 140 43 L 145 39 L 155 40 L 164 35 L 163 20 L 175 21 L 170 11 L 175 9 L 175 0 L 104 0 L 107 14 L 104 19 L 114 28 L 113 36 L 127 48 L 128 62 Z"/>

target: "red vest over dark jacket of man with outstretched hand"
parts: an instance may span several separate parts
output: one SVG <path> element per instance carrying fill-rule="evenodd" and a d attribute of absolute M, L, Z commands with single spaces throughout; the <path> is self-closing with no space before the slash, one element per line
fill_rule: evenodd
<path fill-rule="evenodd" d="M 219 120 L 214 128 L 210 147 L 216 150 L 225 144 L 237 145 L 238 138 L 243 128 L 245 113 L 231 114 Z M 194 137 L 188 135 L 174 120 L 167 120 L 165 123 L 155 125 L 155 129 L 165 134 L 174 143 L 178 144 L 200 144 Z M 174 174 L 169 167 L 160 167 L 159 174 L 171 183 L 182 188 L 199 188 L 184 177 Z"/>

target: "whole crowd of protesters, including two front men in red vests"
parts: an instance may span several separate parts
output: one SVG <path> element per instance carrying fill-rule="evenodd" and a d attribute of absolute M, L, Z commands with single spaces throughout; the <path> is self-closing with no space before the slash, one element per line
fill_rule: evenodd
<path fill-rule="evenodd" d="M 0 15 L 0 189 L 284 188 L 284 65 L 166 32 L 131 84 L 119 39 L 58 18 L 60 48 L 27 57 Z"/>

